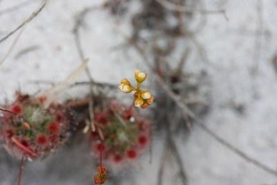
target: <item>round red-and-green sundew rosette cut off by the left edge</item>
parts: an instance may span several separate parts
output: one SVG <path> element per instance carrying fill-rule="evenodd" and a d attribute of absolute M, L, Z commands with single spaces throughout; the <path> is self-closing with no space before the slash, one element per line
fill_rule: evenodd
<path fill-rule="evenodd" d="M 67 110 L 51 103 L 44 108 L 45 97 L 17 94 L 15 103 L 3 112 L 0 133 L 4 148 L 19 159 L 46 156 L 66 140 L 69 128 Z"/>

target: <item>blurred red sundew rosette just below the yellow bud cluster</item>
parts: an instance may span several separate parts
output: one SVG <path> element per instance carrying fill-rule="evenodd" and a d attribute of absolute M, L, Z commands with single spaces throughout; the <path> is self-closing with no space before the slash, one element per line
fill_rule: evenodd
<path fill-rule="evenodd" d="M 130 139 L 131 143 L 129 146 L 120 150 L 118 149 L 120 148 L 120 144 L 117 144 L 118 141 L 116 139 L 118 137 L 117 134 L 114 132 L 107 132 L 109 127 L 113 127 L 113 124 L 118 124 L 118 127 L 120 127 L 117 128 L 114 126 L 115 130 L 118 129 L 120 130 L 118 132 L 125 132 L 124 127 L 119 125 L 122 123 L 118 123 L 118 120 L 115 121 L 116 116 L 120 116 L 125 124 L 132 125 L 131 128 L 135 133 L 134 138 Z M 102 150 L 103 159 L 111 161 L 112 164 L 134 161 L 143 153 L 150 143 L 150 121 L 138 116 L 133 107 L 120 105 L 113 101 L 110 107 L 96 110 L 94 123 L 101 128 L 105 139 L 104 141 L 100 141 L 98 132 L 91 132 L 93 152 L 96 154 L 96 157 L 99 157 Z"/>

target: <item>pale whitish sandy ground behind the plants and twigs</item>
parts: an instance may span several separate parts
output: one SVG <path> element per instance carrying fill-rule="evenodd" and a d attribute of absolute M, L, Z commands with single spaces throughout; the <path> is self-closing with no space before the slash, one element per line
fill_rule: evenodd
<path fill-rule="evenodd" d="M 0 1 L 0 12 L 21 1 Z M 0 13 L 0 37 L 17 26 L 39 6 L 30 1 L 18 10 Z M 0 102 L 11 101 L 15 90 L 35 93 L 48 85 L 35 85 L 33 80 L 63 80 L 78 66 L 80 59 L 74 44 L 75 16 L 86 6 L 101 1 L 50 0 L 46 8 L 28 24 L 10 57 L 0 67 Z M 132 3 L 136 11 L 138 4 Z M 277 170 L 277 83 L 271 60 L 277 52 L 277 1 L 222 0 L 205 1 L 207 9 L 226 9 L 222 15 L 208 15 L 207 23 L 196 35 L 206 50 L 203 60 L 197 50 L 190 57 L 187 69 L 208 73 L 211 110 L 205 123 L 224 139 L 248 155 Z M 258 13 L 260 11 L 260 14 Z M 134 69 L 145 69 L 134 51 L 113 51 L 124 42 L 122 33 L 129 34 L 129 19 L 111 17 L 107 12 L 91 12 L 82 29 L 82 47 L 90 58 L 93 78 L 117 84 L 131 77 Z M 15 34 L 16 35 L 16 34 Z M 15 35 L 0 44 L 0 58 L 8 51 Z M 26 48 L 33 51 L 20 55 Z M 252 73 L 252 69 L 256 69 Z M 86 80 L 84 74 L 78 80 Z M 88 89 L 71 89 L 65 97 L 87 94 Z M 237 107 L 237 109 L 235 109 Z M 238 111 L 242 107 L 242 111 Z M 159 136 L 158 136 L 159 137 Z M 274 185 L 277 177 L 247 163 L 221 146 L 198 127 L 188 141 L 179 139 L 189 184 L 192 185 Z M 70 144 L 70 143 L 69 143 Z M 85 144 L 64 146 L 44 161 L 34 161 L 24 168 L 22 184 L 93 184 L 92 160 Z M 159 139 L 154 141 L 154 159 L 148 155 L 127 167 L 118 177 L 123 184 L 156 184 Z M 164 184 L 180 184 L 175 165 L 168 162 Z M 0 184 L 16 184 L 19 162 L 1 148 Z M 131 174 L 131 175 L 130 175 Z M 128 177 L 130 176 L 130 177 Z M 132 178 L 131 178 L 132 177 Z"/>

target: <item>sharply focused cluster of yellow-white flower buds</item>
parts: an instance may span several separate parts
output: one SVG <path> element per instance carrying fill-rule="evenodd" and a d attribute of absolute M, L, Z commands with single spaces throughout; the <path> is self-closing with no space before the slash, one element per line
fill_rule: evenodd
<path fill-rule="evenodd" d="M 136 70 L 134 72 L 134 78 L 136 79 L 136 88 L 131 84 L 131 82 L 129 82 L 129 80 L 127 80 L 127 78 L 123 78 L 123 80 L 121 80 L 118 88 L 126 94 L 134 91 L 134 106 L 145 109 L 154 101 L 154 96 L 150 91 L 141 89 L 141 83 L 145 81 L 147 74 Z"/>

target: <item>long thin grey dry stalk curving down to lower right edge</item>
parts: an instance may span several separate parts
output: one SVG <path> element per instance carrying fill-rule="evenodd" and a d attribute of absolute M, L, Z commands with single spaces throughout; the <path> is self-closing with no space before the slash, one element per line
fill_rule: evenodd
<path fill-rule="evenodd" d="M 197 117 L 193 111 L 190 110 L 190 108 L 186 105 L 186 103 L 184 103 L 184 100 L 181 98 L 181 96 L 179 96 L 178 94 L 175 94 L 175 92 L 173 92 L 170 87 L 168 87 L 168 85 L 166 84 L 166 82 L 163 81 L 163 79 L 158 75 L 158 73 L 154 70 L 154 68 L 152 67 L 152 65 L 150 64 L 148 58 L 146 57 L 143 49 L 141 49 L 141 47 L 136 44 L 135 42 L 132 42 L 131 39 L 129 39 L 129 43 L 132 44 L 132 46 L 134 46 L 134 49 L 136 49 L 136 51 L 138 51 L 138 53 L 141 55 L 141 57 L 143 58 L 143 62 L 146 64 L 146 66 L 148 66 L 148 68 L 151 70 L 151 72 L 153 73 L 155 79 L 157 80 L 157 82 L 159 83 L 160 87 L 166 92 L 166 94 L 168 94 L 168 96 L 177 104 L 177 106 L 179 107 L 179 109 L 181 109 L 181 112 L 183 114 L 188 115 L 190 118 L 193 118 L 193 120 L 195 121 L 196 125 L 198 125 L 200 128 L 202 128 L 202 130 L 204 130 L 204 132 L 206 132 L 207 134 L 209 134 L 210 136 L 213 137 L 213 139 L 215 139 L 216 141 L 218 141 L 220 144 L 222 144 L 222 146 L 225 146 L 226 148 L 228 148 L 229 150 L 231 150 L 233 153 L 235 153 L 236 155 L 242 157 L 242 159 L 244 159 L 245 161 L 248 161 L 249 163 L 253 164 L 254 166 L 265 170 L 265 172 L 270 173 L 271 175 L 274 175 L 277 177 L 277 170 L 274 170 L 272 168 L 270 168 L 269 166 L 266 166 L 265 164 L 262 164 L 262 162 L 253 159 L 253 157 L 250 157 L 249 155 L 245 154 L 244 152 L 242 152 L 242 150 L 236 148 L 235 146 L 233 146 L 231 143 L 229 143 L 229 141 L 226 141 L 225 139 L 223 139 L 220 135 L 216 134 L 215 132 L 213 132 L 213 130 L 211 130 L 210 128 L 208 128 L 204 121 L 202 121 L 201 118 Z"/>

